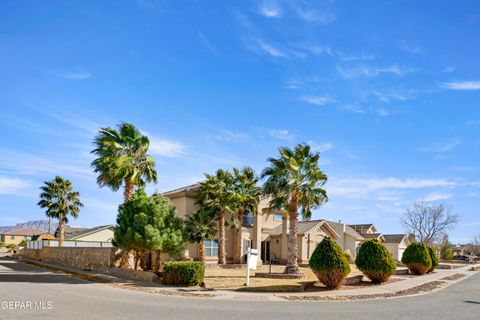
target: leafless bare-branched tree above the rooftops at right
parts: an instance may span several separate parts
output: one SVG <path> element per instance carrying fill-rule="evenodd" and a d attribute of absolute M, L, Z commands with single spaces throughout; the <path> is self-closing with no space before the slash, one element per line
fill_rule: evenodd
<path fill-rule="evenodd" d="M 444 203 L 428 203 L 423 200 L 414 203 L 405 211 L 402 223 L 417 240 L 433 243 L 440 239 L 458 222 L 458 214 Z"/>

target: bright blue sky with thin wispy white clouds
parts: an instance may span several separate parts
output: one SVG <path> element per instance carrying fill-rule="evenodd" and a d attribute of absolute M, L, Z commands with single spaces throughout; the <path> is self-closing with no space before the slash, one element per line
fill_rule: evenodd
<path fill-rule="evenodd" d="M 151 139 L 165 191 L 204 172 L 260 172 L 278 146 L 320 151 L 314 218 L 403 232 L 424 198 L 479 232 L 478 1 L 2 1 L 0 225 L 44 217 L 60 174 L 114 223 L 120 192 L 90 168 L 102 126 Z"/>

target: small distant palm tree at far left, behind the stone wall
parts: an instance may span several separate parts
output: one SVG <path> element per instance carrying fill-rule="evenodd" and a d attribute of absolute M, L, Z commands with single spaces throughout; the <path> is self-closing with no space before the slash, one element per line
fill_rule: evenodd
<path fill-rule="evenodd" d="M 55 179 L 45 181 L 44 184 L 44 186 L 40 187 L 42 193 L 40 193 L 41 200 L 38 202 L 38 205 L 47 209 L 47 217 L 58 219 L 59 245 L 62 246 L 65 239 L 65 224 L 68 223 L 68 215 L 76 219 L 83 204 L 79 199 L 80 194 L 72 190 L 73 186 L 69 180 L 56 176 Z"/>

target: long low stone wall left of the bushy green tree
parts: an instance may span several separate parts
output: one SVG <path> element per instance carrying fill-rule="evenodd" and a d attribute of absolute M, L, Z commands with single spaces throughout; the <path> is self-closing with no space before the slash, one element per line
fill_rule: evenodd
<path fill-rule="evenodd" d="M 115 248 L 44 247 L 25 249 L 27 259 L 59 263 L 88 271 L 108 272 L 113 267 Z"/>

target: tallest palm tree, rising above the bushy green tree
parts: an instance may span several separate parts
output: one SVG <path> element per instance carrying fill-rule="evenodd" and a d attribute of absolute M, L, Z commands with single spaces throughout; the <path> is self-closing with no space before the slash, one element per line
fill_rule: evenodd
<path fill-rule="evenodd" d="M 123 186 L 127 202 L 135 187 L 143 187 L 146 182 L 157 183 L 155 160 L 147 154 L 150 141 L 133 124 L 122 122 L 118 130 L 101 128 L 94 143 L 96 148 L 92 153 L 97 158 L 92 167 L 98 173 L 100 187 L 117 191 Z"/>

